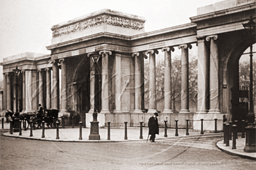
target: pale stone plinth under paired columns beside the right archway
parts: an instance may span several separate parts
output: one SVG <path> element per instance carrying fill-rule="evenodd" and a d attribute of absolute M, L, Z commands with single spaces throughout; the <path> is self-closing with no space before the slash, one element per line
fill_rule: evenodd
<path fill-rule="evenodd" d="M 217 118 L 217 130 L 223 130 L 223 114 L 194 114 L 193 129 L 201 130 L 201 119 L 203 119 L 203 130 L 214 132 L 215 118 Z"/>

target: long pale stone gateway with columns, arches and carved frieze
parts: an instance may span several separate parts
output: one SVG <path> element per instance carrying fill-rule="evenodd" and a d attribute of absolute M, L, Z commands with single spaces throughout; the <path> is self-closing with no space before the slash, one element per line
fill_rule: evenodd
<path fill-rule="evenodd" d="M 144 32 L 144 18 L 112 10 L 100 10 L 78 19 L 53 26 L 50 55 L 24 53 L 3 59 L 4 110 L 15 111 L 15 88 L 12 70 L 17 65 L 19 78 L 19 111 L 35 112 L 40 102 L 44 108 L 59 109 L 60 114 L 86 114 L 87 126 L 92 121 L 94 102 L 99 126 L 111 114 L 120 120 L 139 123 L 144 109 L 144 58 L 149 58 L 149 108 L 144 115 L 157 111 L 155 93 L 155 57 L 165 55 L 164 112 L 171 110 L 171 53 L 178 47 L 182 56 L 181 113 L 189 113 L 188 57 L 191 44 L 198 46 L 198 108 L 193 128 L 222 130 L 223 115 L 239 122 L 235 112 L 239 102 L 239 58 L 255 43 L 243 24 L 255 17 L 254 0 L 227 0 L 198 8 L 191 23 Z M 98 54 L 94 63 L 88 54 Z M 60 71 L 61 69 L 61 71 Z M 52 70 L 52 71 L 51 71 Z M 22 78 L 21 78 L 22 77 Z M 61 82 L 60 81 L 61 77 Z M 96 87 L 94 87 L 96 84 Z M 13 102 L 14 101 L 14 102 Z M 252 104 L 252 101 L 250 101 Z M 233 119 L 234 121 L 234 119 Z"/>

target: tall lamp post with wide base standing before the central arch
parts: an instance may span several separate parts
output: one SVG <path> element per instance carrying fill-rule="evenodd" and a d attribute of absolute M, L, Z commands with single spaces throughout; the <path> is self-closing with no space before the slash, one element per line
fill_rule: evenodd
<path fill-rule="evenodd" d="M 99 61 L 99 55 L 97 53 L 89 53 L 87 55 L 88 57 L 90 57 L 92 59 L 92 62 L 94 63 L 94 70 L 95 73 L 94 75 L 99 75 L 99 70 L 98 70 L 98 66 L 97 63 Z M 98 73 L 96 73 L 98 71 Z M 96 77 L 95 77 L 96 78 Z M 96 79 L 94 81 L 94 112 L 92 114 L 92 118 L 93 120 L 90 121 L 90 135 L 89 135 L 89 140 L 99 140 L 100 136 L 99 136 L 99 121 L 97 120 L 97 116 L 98 116 L 98 112 L 96 110 Z"/>

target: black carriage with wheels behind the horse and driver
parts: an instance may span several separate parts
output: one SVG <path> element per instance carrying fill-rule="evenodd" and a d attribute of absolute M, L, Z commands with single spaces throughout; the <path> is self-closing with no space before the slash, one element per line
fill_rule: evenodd
<path fill-rule="evenodd" d="M 42 121 L 46 122 L 47 127 L 53 128 L 53 123 L 58 120 L 58 110 L 57 109 L 44 109 L 44 114 L 36 116 L 35 118 L 35 128 L 42 127 Z"/>

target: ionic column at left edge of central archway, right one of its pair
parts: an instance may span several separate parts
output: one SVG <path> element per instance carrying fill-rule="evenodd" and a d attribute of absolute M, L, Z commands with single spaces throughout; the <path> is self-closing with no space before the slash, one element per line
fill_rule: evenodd
<path fill-rule="evenodd" d="M 64 58 L 59 59 L 58 62 L 62 65 L 62 108 L 60 112 L 67 114 L 67 66 Z"/>

